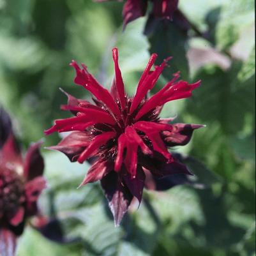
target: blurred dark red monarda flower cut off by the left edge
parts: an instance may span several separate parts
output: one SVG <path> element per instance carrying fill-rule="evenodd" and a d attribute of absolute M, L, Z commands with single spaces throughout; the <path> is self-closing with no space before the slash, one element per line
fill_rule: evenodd
<path fill-rule="evenodd" d="M 6 122 L 7 114 L 3 109 L 0 112 L 0 121 L 4 124 L 0 132 L 8 133 L 3 147 L 0 147 L 0 248 L 3 255 L 14 255 L 16 239 L 22 234 L 27 218 L 38 212 L 36 202 L 45 188 L 44 165 L 39 151 L 41 142 L 29 147 L 22 158 L 11 132 L 11 123 Z"/>

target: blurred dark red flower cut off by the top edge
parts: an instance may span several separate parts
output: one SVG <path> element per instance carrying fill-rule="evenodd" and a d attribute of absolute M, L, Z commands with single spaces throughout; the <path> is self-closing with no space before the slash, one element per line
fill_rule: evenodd
<path fill-rule="evenodd" d="M 109 0 L 95 0 L 105 2 Z M 119 0 L 117 0 L 119 1 Z M 153 15 L 165 19 L 172 19 L 177 10 L 178 0 L 126 0 L 123 7 L 124 27 L 131 21 L 146 14 L 148 1 L 153 2 Z"/>

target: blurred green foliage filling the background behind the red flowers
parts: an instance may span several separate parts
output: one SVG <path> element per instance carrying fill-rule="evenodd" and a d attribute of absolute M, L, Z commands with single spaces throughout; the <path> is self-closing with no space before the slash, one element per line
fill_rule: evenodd
<path fill-rule="evenodd" d="M 192 98 L 171 102 L 163 116 L 207 124 L 188 146 L 174 150 L 196 157 L 212 171 L 190 166 L 195 173 L 202 169 L 204 190 L 183 185 L 164 193 L 144 192 L 139 210 L 130 207 L 121 227 L 114 228 L 100 186 L 75 189 L 88 166 L 43 151 L 49 187 L 41 211 L 57 216 L 66 236 L 79 240 L 59 245 L 27 228 L 19 256 L 255 255 L 254 2 L 180 0 L 179 6 L 200 31 L 207 31 L 205 38 L 193 33 L 187 38 L 173 24 L 167 34 L 158 30 L 147 38 L 144 18 L 122 32 L 121 3 L 0 0 L 0 102 L 11 112 L 24 144 L 41 139 L 54 119 L 69 116 L 59 110 L 66 101 L 59 87 L 89 97 L 73 84 L 68 63 L 84 62 L 109 87 L 111 49 L 117 45 L 128 94 L 134 93 L 150 52 L 157 52 L 159 61 L 174 56 L 156 89 L 176 70 L 184 79 L 202 80 Z M 194 48 L 209 56 L 209 49 L 215 49 L 220 61 L 207 57 L 205 62 L 204 55 L 190 59 Z M 223 57 L 228 59 L 225 68 Z M 58 135 L 47 137 L 45 146 L 58 140 Z"/>

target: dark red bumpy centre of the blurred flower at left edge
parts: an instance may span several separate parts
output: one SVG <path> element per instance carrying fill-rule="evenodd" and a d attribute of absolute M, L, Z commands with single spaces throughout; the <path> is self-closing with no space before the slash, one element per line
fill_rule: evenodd
<path fill-rule="evenodd" d="M 0 218 L 14 215 L 24 200 L 24 182 L 19 174 L 0 168 Z"/>

